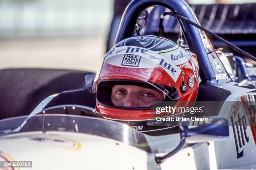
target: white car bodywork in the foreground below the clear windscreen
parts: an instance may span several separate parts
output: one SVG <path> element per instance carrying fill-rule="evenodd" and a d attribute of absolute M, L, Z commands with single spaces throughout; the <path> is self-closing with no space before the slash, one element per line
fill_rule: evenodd
<path fill-rule="evenodd" d="M 3 157 L 9 161 L 32 161 L 35 170 L 209 168 L 206 143 L 184 148 L 162 164 L 155 162 L 155 154 L 109 138 L 81 133 L 51 131 L 7 135 L 0 138 L 0 150 L 0 161 L 4 161 Z"/>

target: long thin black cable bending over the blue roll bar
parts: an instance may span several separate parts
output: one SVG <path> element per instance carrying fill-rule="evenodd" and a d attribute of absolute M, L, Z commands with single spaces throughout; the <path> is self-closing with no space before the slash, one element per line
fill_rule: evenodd
<path fill-rule="evenodd" d="M 211 32 L 211 31 L 207 30 L 206 28 L 204 28 L 204 27 L 202 27 L 202 26 L 200 26 L 200 25 L 198 25 L 198 24 L 196 24 L 196 23 L 194 23 L 194 22 L 192 22 L 192 21 L 190 21 L 190 20 L 188 20 L 187 18 L 185 18 L 185 17 L 183 17 L 183 16 L 181 16 L 181 15 L 179 15 L 179 14 L 166 12 L 166 13 L 163 13 L 163 14 L 161 15 L 160 20 L 159 20 L 159 33 L 158 33 L 159 35 L 163 35 L 163 34 L 164 34 L 163 20 L 164 20 L 164 17 L 165 17 L 166 15 L 171 15 L 171 16 L 174 16 L 174 17 L 176 17 L 176 18 L 179 18 L 179 19 L 181 19 L 181 20 L 186 21 L 187 23 L 189 23 L 189 24 L 195 26 L 196 28 L 199 28 L 200 30 L 206 32 L 207 34 L 211 35 L 212 37 L 215 37 L 216 39 L 218 39 L 218 40 L 220 40 L 221 42 L 225 43 L 226 45 L 228 45 L 228 47 L 233 48 L 234 50 L 236 50 L 236 51 L 239 52 L 240 54 L 249 57 L 249 58 L 252 59 L 253 61 L 256 61 L 256 57 L 254 57 L 253 55 L 251 55 L 251 54 L 249 54 L 249 53 L 247 53 L 247 52 L 241 50 L 241 49 L 238 48 L 236 45 L 231 44 L 230 42 L 224 40 L 222 37 L 216 35 L 215 33 L 213 33 L 213 32 Z"/>

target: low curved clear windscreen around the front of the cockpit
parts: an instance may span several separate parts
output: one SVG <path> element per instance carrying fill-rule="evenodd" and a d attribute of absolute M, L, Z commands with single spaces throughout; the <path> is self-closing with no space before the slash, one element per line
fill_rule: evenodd
<path fill-rule="evenodd" d="M 110 138 L 144 150 L 148 153 L 172 151 L 177 147 L 180 140 L 179 134 L 154 137 L 141 133 L 128 125 L 111 120 L 61 114 L 32 116 L 28 118 L 26 124 L 24 124 L 18 132 L 3 135 L 5 134 L 4 132 L 16 129 L 27 117 L 28 116 L 23 116 L 0 120 L 0 136 L 2 135 L 0 140 L 1 138 L 8 138 L 8 134 L 42 131 L 44 129 L 46 132 L 61 131 L 84 133 Z"/>

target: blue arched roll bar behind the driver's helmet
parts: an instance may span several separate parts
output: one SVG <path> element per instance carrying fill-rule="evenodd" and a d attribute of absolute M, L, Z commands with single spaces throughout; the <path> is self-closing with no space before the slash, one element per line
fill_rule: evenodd
<path fill-rule="evenodd" d="M 118 33 L 115 38 L 115 44 L 125 38 L 131 37 L 140 13 L 147 7 L 154 5 L 167 7 L 172 10 L 172 12 L 182 15 L 192 22 L 199 24 L 194 12 L 183 0 L 133 0 L 123 13 Z M 189 23 L 182 20 L 179 20 L 179 22 L 189 45 L 189 49 L 198 57 L 201 80 L 214 80 L 215 74 L 207 56 L 207 52 L 209 51 L 207 51 L 203 44 L 200 31 Z"/>

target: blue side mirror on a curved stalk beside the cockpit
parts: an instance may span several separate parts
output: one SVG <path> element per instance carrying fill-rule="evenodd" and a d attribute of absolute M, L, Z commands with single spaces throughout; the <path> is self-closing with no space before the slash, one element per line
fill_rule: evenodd
<path fill-rule="evenodd" d="M 199 122 L 197 125 L 193 121 L 182 121 L 179 123 L 179 130 L 181 137 L 179 145 L 172 152 L 156 157 L 157 163 L 162 163 L 165 159 L 178 153 L 187 143 L 202 143 L 229 137 L 228 120 L 222 117 L 208 117 L 207 121 Z"/>

